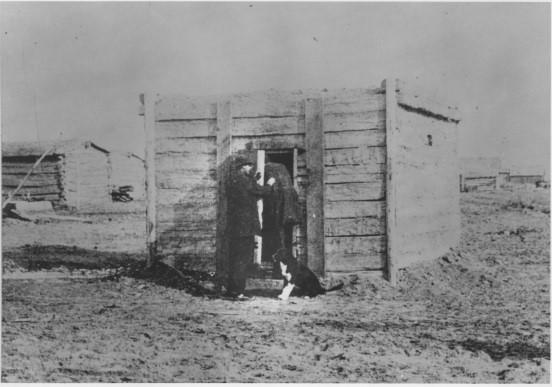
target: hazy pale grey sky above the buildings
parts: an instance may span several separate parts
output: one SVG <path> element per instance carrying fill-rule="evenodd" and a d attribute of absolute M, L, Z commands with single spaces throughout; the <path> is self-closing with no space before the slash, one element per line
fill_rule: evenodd
<path fill-rule="evenodd" d="M 0 3 L 2 141 L 144 153 L 144 91 L 415 80 L 461 112 L 459 153 L 550 166 L 546 3 Z M 549 173 L 549 172 L 548 172 Z"/>

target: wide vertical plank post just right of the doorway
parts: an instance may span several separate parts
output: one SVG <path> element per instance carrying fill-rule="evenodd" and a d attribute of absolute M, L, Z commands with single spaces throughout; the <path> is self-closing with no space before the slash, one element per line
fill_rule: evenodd
<path fill-rule="evenodd" d="M 307 264 L 324 275 L 324 126 L 323 101 L 305 101 L 305 143 L 309 186 L 307 189 Z"/>

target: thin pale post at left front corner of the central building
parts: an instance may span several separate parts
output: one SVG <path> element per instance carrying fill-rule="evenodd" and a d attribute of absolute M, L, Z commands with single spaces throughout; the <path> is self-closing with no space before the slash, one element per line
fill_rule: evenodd
<path fill-rule="evenodd" d="M 157 256 L 157 217 L 155 185 L 155 100 L 153 93 L 144 94 L 144 130 L 146 132 L 146 235 L 148 258 L 151 267 Z"/>

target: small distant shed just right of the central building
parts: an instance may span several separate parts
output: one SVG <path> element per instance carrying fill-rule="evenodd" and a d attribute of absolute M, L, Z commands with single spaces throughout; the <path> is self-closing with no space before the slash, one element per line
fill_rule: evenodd
<path fill-rule="evenodd" d="M 493 190 L 499 187 L 500 158 L 460 159 L 460 192 Z"/>

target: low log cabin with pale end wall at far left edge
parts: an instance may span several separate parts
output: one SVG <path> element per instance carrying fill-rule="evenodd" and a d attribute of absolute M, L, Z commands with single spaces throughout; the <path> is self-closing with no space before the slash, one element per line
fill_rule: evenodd
<path fill-rule="evenodd" d="M 109 152 L 91 141 L 13 142 L 2 144 L 2 194 L 13 191 L 47 150 L 15 195 L 23 200 L 48 200 L 56 207 L 94 211 L 110 201 Z"/>

